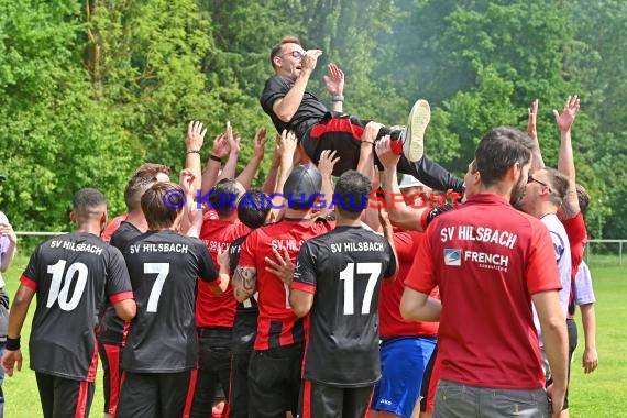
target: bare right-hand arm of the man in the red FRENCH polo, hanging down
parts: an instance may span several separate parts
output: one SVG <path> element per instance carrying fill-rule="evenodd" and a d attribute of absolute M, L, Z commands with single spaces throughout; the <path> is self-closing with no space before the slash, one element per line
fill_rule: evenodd
<path fill-rule="evenodd" d="M 556 411 L 559 414 L 562 410 L 568 385 L 569 337 L 566 319 L 560 307 L 557 290 L 534 294 L 531 299 L 538 311 L 544 351 L 553 376 L 553 385 L 549 396 L 551 396 L 554 415 Z"/>

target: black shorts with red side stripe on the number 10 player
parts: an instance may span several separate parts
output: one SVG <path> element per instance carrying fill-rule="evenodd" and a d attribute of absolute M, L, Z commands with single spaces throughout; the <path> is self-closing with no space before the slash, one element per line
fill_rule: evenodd
<path fill-rule="evenodd" d="M 73 381 L 35 372 L 44 418 L 88 417 L 94 400 L 94 382 Z"/>

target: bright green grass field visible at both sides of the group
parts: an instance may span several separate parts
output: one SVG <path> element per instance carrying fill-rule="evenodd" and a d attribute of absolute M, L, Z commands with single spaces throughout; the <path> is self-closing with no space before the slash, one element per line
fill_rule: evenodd
<path fill-rule="evenodd" d="M 7 293 L 13 297 L 18 279 L 28 258 L 19 256 L 4 278 Z M 579 326 L 579 344 L 571 377 L 571 416 L 572 417 L 625 417 L 627 416 L 627 265 L 619 266 L 618 260 L 603 256 L 592 257 L 592 274 L 597 304 L 596 320 L 600 365 L 596 372 L 585 375 L 581 367 L 583 329 Z M 22 372 L 4 378 L 6 417 L 41 417 L 40 398 L 34 373 L 29 369 L 28 339 L 34 304 L 22 330 L 24 365 Z M 101 376 L 102 373 L 99 373 Z M 96 387 L 91 407 L 92 417 L 102 416 L 102 388 Z"/>

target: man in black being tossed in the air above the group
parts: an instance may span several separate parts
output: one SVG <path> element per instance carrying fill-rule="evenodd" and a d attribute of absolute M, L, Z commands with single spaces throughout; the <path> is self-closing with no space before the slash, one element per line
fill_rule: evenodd
<path fill-rule="evenodd" d="M 332 110 L 307 91 L 309 77 L 320 55 L 320 50 L 305 51 L 297 37 L 284 37 L 272 48 L 271 63 L 275 75 L 265 84 L 261 105 L 279 133 L 284 130 L 295 131 L 300 151 L 315 164 L 323 150 L 338 151 L 340 161 L 336 164 L 333 175 L 339 176 L 356 168 L 363 131 L 369 123 L 376 122 L 342 112 L 344 74 L 334 64 L 328 65 L 329 75 L 324 76 L 327 89 L 332 96 Z M 422 156 L 429 119 L 429 103 L 418 100 L 411 108 L 406 128 L 384 127 L 375 142 L 389 134 L 394 151 L 403 155 L 398 164 L 402 173 L 411 174 L 433 189 L 461 193 L 462 179 Z"/>

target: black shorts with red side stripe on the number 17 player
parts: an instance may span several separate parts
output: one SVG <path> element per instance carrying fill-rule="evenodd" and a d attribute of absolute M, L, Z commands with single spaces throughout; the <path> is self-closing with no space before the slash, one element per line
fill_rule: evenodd
<path fill-rule="evenodd" d="M 302 381 L 299 418 L 342 417 L 363 418 L 372 399 L 374 385 L 364 387 L 337 387 Z"/>

